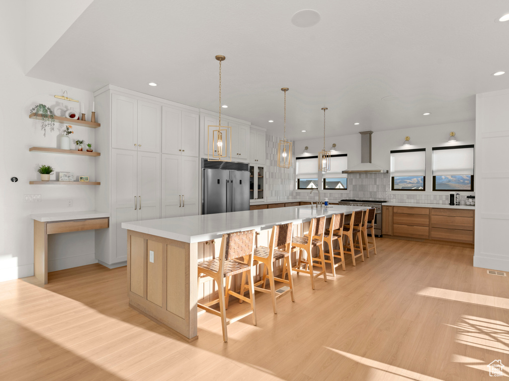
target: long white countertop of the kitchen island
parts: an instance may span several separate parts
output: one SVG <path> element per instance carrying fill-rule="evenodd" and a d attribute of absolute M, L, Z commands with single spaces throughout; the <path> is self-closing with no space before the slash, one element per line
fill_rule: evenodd
<path fill-rule="evenodd" d="M 318 210 L 311 209 L 308 205 L 293 206 L 133 221 L 122 223 L 122 228 L 176 241 L 195 243 L 220 238 L 224 233 L 252 229 L 267 230 L 278 224 L 290 222 L 300 224 L 314 217 L 336 213 L 351 214 L 352 211 L 361 209 L 361 207 L 345 205 L 330 205 Z"/>

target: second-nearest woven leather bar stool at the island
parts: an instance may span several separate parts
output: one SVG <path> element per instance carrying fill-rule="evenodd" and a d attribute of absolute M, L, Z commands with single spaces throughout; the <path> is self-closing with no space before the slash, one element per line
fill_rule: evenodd
<path fill-rule="evenodd" d="M 257 283 L 254 283 L 254 290 L 261 291 L 264 293 L 271 294 L 272 296 L 272 309 L 274 313 L 277 313 L 276 309 L 276 298 L 279 298 L 285 294 L 290 293 L 292 298 L 292 302 L 295 302 L 293 296 L 293 279 L 292 279 L 292 260 L 290 258 L 290 253 L 292 249 L 292 233 L 293 233 L 293 223 L 284 224 L 284 225 L 275 225 L 272 227 L 272 232 L 270 234 L 269 247 L 258 246 L 254 248 L 254 261 L 258 263 L 264 264 L 264 274 L 262 280 Z M 281 246 L 284 246 L 282 248 Z M 280 250 L 278 248 L 281 248 Z M 274 262 L 283 260 L 283 274 L 288 273 L 288 280 L 284 279 L 285 277 L 275 277 L 274 276 Z M 265 270 L 267 270 L 267 274 L 265 274 Z M 269 284 L 270 290 L 265 289 L 265 281 L 267 279 L 267 275 L 269 276 Z M 244 278 L 244 275 L 242 276 Z M 282 287 L 279 290 L 275 289 L 274 281 L 277 280 L 281 283 L 286 283 L 288 286 Z M 245 281 L 242 279 L 242 288 L 240 293 L 242 295 L 244 291 Z M 260 287 L 261 285 L 261 287 Z"/>

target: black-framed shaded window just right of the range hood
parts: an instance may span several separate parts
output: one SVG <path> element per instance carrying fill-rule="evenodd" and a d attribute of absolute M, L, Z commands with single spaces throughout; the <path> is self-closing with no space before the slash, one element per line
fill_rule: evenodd
<path fill-rule="evenodd" d="M 426 190 L 426 148 L 390 151 L 391 190 Z"/>

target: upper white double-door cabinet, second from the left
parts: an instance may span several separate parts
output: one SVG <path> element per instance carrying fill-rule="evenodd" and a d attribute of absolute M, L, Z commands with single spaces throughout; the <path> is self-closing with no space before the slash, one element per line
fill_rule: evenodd
<path fill-rule="evenodd" d="M 199 129 L 199 113 L 163 106 L 162 153 L 197 157 Z"/>

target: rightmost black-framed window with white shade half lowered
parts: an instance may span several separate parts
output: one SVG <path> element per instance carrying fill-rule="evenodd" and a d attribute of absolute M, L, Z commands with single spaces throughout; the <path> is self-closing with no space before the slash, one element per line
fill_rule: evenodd
<path fill-rule="evenodd" d="M 433 190 L 473 192 L 473 144 L 433 148 Z"/>

